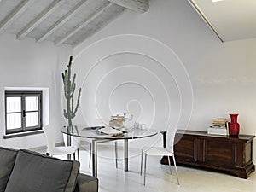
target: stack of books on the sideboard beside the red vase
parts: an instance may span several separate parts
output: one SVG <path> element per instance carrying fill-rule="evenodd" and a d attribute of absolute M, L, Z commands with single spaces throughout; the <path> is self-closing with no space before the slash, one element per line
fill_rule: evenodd
<path fill-rule="evenodd" d="M 207 133 L 211 135 L 229 135 L 229 121 L 226 118 L 215 118 L 212 119 L 212 126 L 208 128 Z"/>

